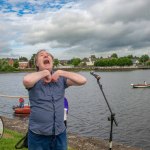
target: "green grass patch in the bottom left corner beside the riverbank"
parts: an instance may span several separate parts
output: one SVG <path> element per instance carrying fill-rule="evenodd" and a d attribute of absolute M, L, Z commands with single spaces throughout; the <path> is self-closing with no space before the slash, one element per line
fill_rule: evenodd
<path fill-rule="evenodd" d="M 9 129 L 4 130 L 4 135 L 2 139 L 0 139 L 0 150 L 16 150 L 16 143 L 23 137 L 24 135 Z M 22 150 L 27 150 L 23 148 Z M 72 148 L 68 148 L 68 150 L 74 150 Z"/>

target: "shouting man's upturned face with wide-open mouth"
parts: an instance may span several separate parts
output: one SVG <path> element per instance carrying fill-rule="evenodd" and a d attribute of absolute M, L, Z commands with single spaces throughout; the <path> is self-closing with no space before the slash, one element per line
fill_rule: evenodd
<path fill-rule="evenodd" d="M 39 71 L 45 69 L 51 71 L 53 67 L 52 56 L 44 50 L 39 52 L 37 56 L 36 66 L 39 68 Z"/>

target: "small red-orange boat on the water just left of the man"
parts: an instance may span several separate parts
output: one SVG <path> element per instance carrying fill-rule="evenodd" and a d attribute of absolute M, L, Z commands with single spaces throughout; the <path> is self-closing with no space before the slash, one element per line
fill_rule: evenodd
<path fill-rule="evenodd" d="M 30 114 L 30 106 L 25 105 L 24 107 L 20 108 L 18 106 L 13 106 L 13 110 L 15 114 Z"/>

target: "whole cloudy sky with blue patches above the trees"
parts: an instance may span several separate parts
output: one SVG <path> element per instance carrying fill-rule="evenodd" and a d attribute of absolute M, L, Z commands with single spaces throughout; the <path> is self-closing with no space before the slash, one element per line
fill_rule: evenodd
<path fill-rule="evenodd" d="M 150 56 L 149 0 L 1 0 L 0 57 Z"/>

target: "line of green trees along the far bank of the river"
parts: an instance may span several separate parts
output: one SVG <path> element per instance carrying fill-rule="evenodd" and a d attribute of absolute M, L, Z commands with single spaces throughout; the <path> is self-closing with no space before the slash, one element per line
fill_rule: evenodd
<path fill-rule="evenodd" d="M 133 56 L 133 55 L 128 55 L 124 57 L 118 57 L 116 53 L 113 53 L 110 57 L 108 58 L 97 58 L 95 55 L 91 55 L 91 61 L 94 62 L 94 66 L 131 66 L 133 65 L 133 60 L 138 60 L 139 65 L 144 65 L 144 66 L 150 66 L 150 57 L 148 55 L 142 55 L 141 57 Z M 20 57 L 19 59 L 14 59 L 13 65 L 10 65 L 8 63 L 8 59 L 0 59 L 0 71 L 18 71 L 19 67 L 19 62 L 22 61 L 28 61 L 29 63 L 29 68 L 35 68 L 35 54 L 31 56 L 31 58 L 28 60 L 26 57 Z M 86 66 L 86 62 L 89 61 L 88 58 L 77 58 L 74 57 L 68 61 L 66 61 L 63 65 L 72 65 L 72 66 Z M 60 64 L 60 60 L 57 58 L 54 59 L 54 66 L 58 66 Z"/>

